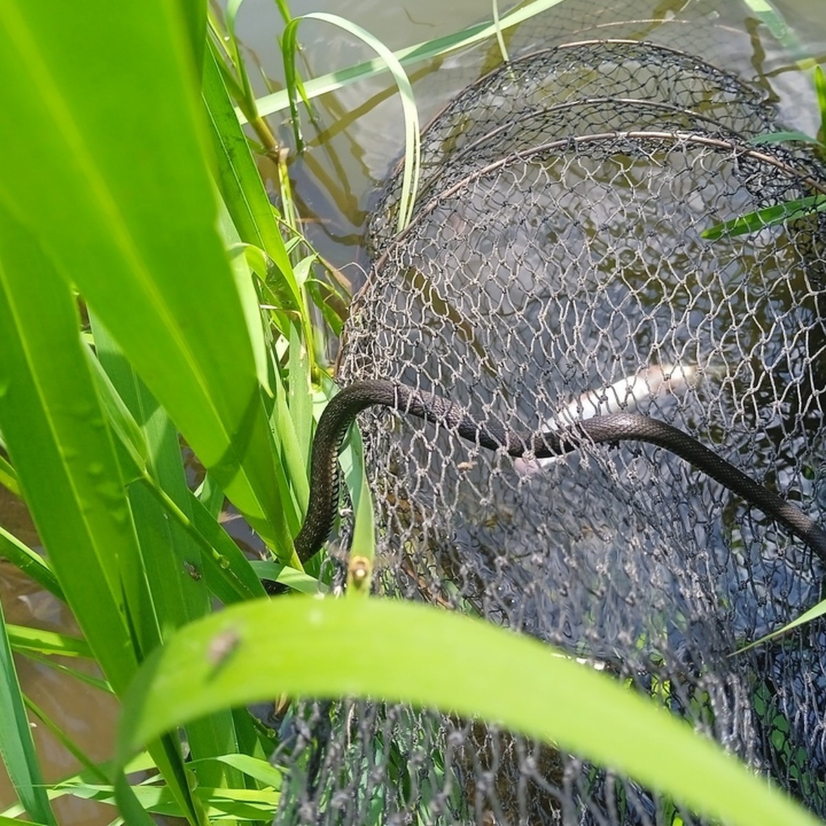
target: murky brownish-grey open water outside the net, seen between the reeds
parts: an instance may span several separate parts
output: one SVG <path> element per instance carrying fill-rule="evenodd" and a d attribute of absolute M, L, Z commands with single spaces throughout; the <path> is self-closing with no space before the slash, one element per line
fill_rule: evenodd
<path fill-rule="evenodd" d="M 488 0 L 453 3 L 444 3 L 444 0 L 351 0 L 344 7 L 337 0 L 293 0 L 291 5 L 296 15 L 311 10 L 343 14 L 393 49 L 456 31 L 487 17 L 490 11 Z M 610 14 L 601 15 L 603 6 L 610 8 Z M 710 12 L 715 6 L 722 10 Z M 823 59 L 826 55 L 823 0 L 776 0 L 776 7 L 795 31 L 804 52 Z M 583 8 L 589 11 L 583 12 Z M 569 9 L 577 23 L 568 25 L 566 31 L 564 20 Z M 675 15 L 693 19 L 697 25 L 661 26 L 650 22 L 653 17 L 667 19 Z M 691 50 L 686 40 L 695 36 L 698 38 L 697 53 L 770 91 L 789 126 L 809 133 L 817 129 L 810 73 L 795 64 L 796 55 L 774 40 L 765 26 L 758 25 L 744 2 L 631 0 L 597 3 L 589 0 L 584 3 L 583 0 L 569 0 L 553 10 L 553 16 L 553 21 L 562 21 L 559 26 L 556 23 L 544 27 L 525 26 L 510 39 L 511 44 L 521 49 L 529 44 L 550 45 L 554 40 L 580 39 L 577 31 L 583 31 L 589 37 L 652 36 Z M 620 20 L 637 22 L 609 25 Z M 595 23 L 601 24 L 602 28 L 595 30 Z M 259 59 L 263 72 L 278 86 L 282 69 L 276 36 L 281 26 L 272 0 L 247 0 L 240 13 L 239 31 L 255 58 Z M 713 34 L 704 36 L 702 31 L 712 31 Z M 366 46 L 317 21 L 302 24 L 300 39 L 304 46 L 302 59 L 306 75 L 324 74 L 373 56 Z M 423 121 L 455 90 L 482 74 L 495 60 L 496 49 L 483 45 L 445 60 L 438 69 L 434 66 L 412 67 Z M 263 87 L 260 91 L 263 93 Z M 311 148 L 291 167 L 294 194 L 308 218 L 308 235 L 317 249 L 358 284 L 362 280 L 359 268 L 366 265 L 361 234 L 372 193 L 401 151 L 401 111 L 391 82 L 385 76 L 325 96 L 317 103 L 317 112 L 319 127 L 306 128 Z M 288 144 L 291 137 L 286 116 L 275 115 L 271 122 Z M 264 169 L 264 173 L 266 175 L 268 170 Z M 30 547 L 38 547 L 25 506 L 2 488 L 0 524 Z M 239 538 L 244 541 L 242 535 Z M 0 598 L 10 623 L 77 633 L 67 610 L 5 562 L 0 562 Z M 23 657 L 17 658 L 17 665 L 26 693 L 90 757 L 103 760 L 110 756 L 117 714 L 111 696 Z M 37 725 L 34 730 L 48 779 L 55 780 L 77 771 L 74 758 L 43 726 Z M 12 789 L 0 770 L 0 808 L 12 800 Z M 55 808 L 61 824 L 107 824 L 112 819 L 112 809 L 80 800 L 59 801 Z"/>

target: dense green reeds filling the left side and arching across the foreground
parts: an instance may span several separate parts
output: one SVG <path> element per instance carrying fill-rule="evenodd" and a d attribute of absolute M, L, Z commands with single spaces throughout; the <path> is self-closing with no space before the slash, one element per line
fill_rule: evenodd
<path fill-rule="evenodd" d="M 280 732 L 246 706 L 357 694 L 500 719 L 727 822 L 814 823 L 656 705 L 539 643 L 398 601 L 263 599 L 218 516 L 226 497 L 263 538 L 268 579 L 317 587 L 293 537 L 316 401 L 335 389 L 318 343 L 319 315 L 340 323 L 335 287 L 268 200 L 206 9 L 85 12 L 0 7 L 0 483 L 46 550 L 0 532 L 0 553 L 83 632 L 0 622 L 0 752 L 19 796 L 2 814 L 55 824 L 51 799 L 78 795 L 129 824 L 270 822 Z M 194 490 L 180 437 L 206 470 Z M 356 492 L 358 456 L 354 442 Z M 111 762 L 59 732 L 84 771 L 44 783 L 12 651 L 99 665 L 100 690 L 124 702 Z"/>

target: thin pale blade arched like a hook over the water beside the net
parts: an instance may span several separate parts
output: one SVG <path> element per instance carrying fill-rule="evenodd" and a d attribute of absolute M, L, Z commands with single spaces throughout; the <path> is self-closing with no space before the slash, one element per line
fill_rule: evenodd
<path fill-rule="evenodd" d="M 284 56 L 284 74 L 287 78 L 287 91 L 289 94 L 290 111 L 292 112 L 293 126 L 296 128 L 296 141 L 301 150 L 301 135 L 298 131 L 300 117 L 298 114 L 297 94 L 296 94 L 296 49 L 298 24 L 302 20 L 318 20 L 337 26 L 343 31 L 358 37 L 377 53 L 380 59 L 387 66 L 387 70 L 392 74 L 396 87 L 399 90 L 401 108 L 405 121 L 405 160 L 404 172 L 401 178 L 401 201 L 399 214 L 397 216 L 396 230 L 401 232 L 410 222 L 413 215 L 413 204 L 415 202 L 416 189 L 419 185 L 419 165 L 420 165 L 420 145 L 419 145 L 419 112 L 415 105 L 415 96 L 410 78 L 399 59 L 387 48 L 386 45 L 371 35 L 361 26 L 356 26 L 344 17 L 325 12 L 311 12 L 310 14 L 296 17 L 287 24 L 284 29 L 282 40 L 282 54 Z"/>

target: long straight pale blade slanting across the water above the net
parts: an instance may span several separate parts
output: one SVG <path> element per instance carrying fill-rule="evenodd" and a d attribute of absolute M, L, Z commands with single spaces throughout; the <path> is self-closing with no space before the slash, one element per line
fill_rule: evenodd
<path fill-rule="evenodd" d="M 499 31 L 506 31 L 511 26 L 516 26 L 531 17 L 535 17 L 548 8 L 558 6 L 563 0 L 534 0 L 534 2 L 508 12 L 499 21 Z M 437 37 L 434 40 L 425 40 L 416 45 L 407 46 L 392 54 L 401 64 L 418 63 L 423 60 L 430 60 L 443 55 L 448 55 L 452 51 L 463 49 L 466 46 L 482 43 L 489 37 L 495 36 L 497 26 L 492 21 L 478 23 L 475 26 L 468 26 L 467 29 L 455 32 L 444 37 Z M 367 60 L 364 63 L 349 66 L 347 69 L 340 69 L 337 72 L 322 75 L 320 78 L 312 78 L 304 83 L 306 97 L 312 100 L 314 97 L 335 92 L 336 89 L 349 86 L 359 80 L 376 77 L 387 72 L 387 64 L 381 58 Z M 260 116 L 273 115 L 275 112 L 282 112 L 290 107 L 290 94 L 287 89 L 273 94 L 259 97 L 256 106 Z M 240 122 L 245 122 L 244 113 L 238 112 Z"/>

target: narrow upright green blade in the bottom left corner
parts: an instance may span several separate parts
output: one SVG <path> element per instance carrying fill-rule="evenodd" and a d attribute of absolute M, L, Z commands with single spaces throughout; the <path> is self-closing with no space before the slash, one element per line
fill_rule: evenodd
<path fill-rule="evenodd" d="M 0 606 L 0 756 L 17 797 L 32 820 L 57 826 L 46 796 L 26 706 L 17 680 Z"/>

